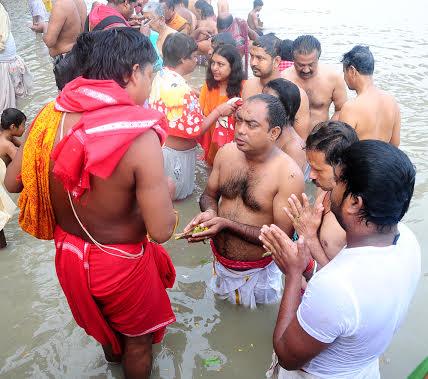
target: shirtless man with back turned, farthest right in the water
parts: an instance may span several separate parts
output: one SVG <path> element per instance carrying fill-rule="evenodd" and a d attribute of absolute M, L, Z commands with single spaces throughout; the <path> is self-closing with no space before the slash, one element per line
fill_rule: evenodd
<path fill-rule="evenodd" d="M 351 125 L 360 140 L 377 139 L 398 147 L 400 107 L 393 96 L 375 86 L 370 49 L 357 45 L 343 56 L 342 63 L 345 82 L 357 97 L 343 105 L 339 120 Z"/>

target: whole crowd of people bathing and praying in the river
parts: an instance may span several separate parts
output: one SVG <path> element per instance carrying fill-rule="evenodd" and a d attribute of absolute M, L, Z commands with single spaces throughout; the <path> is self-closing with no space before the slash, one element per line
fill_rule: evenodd
<path fill-rule="evenodd" d="M 13 91 L 0 161 L 19 224 L 55 241 L 77 324 L 127 378 L 150 376 L 152 344 L 175 322 L 162 247 L 173 235 L 210 241 L 219 299 L 280 304 L 268 376 L 379 378 L 421 270 L 401 222 L 416 172 L 398 148 L 398 103 L 375 85 L 369 47 L 344 52 L 339 73 L 315 36 L 265 33 L 261 0 L 247 21 L 217 6 L 109 0 L 87 14 L 83 0 L 56 0 L 46 25 L 32 12 L 58 95 L 21 143 L 21 60 L 0 5 L 0 81 Z M 200 88 L 186 79 L 197 64 Z M 177 233 L 173 202 L 193 193 L 199 159 L 201 212 Z"/>

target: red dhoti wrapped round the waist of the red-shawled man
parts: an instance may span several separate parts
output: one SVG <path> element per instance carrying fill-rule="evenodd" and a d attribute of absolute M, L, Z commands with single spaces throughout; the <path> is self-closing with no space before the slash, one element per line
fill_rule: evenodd
<path fill-rule="evenodd" d="M 87 334 L 111 345 L 114 354 L 122 352 L 117 332 L 130 337 L 153 333 L 153 343 L 162 341 L 166 326 L 175 322 L 165 291 L 174 284 L 175 269 L 162 246 L 147 240 L 108 245 L 131 254 L 144 248 L 133 259 L 110 255 L 59 226 L 54 239 L 59 282 L 74 319 Z"/>

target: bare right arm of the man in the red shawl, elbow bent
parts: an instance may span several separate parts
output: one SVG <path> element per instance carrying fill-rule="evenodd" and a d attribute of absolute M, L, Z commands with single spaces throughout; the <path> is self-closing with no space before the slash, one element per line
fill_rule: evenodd
<path fill-rule="evenodd" d="M 135 162 L 137 201 L 147 232 L 154 241 L 166 242 L 174 232 L 176 216 L 158 136 L 152 130 L 147 131 L 132 144 L 128 153 Z"/>

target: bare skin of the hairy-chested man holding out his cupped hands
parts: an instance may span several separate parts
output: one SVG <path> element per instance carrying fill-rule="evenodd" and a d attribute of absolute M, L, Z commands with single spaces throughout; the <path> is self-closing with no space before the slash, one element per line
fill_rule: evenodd
<path fill-rule="evenodd" d="M 238 111 L 237 142 L 217 153 L 200 200 L 202 213 L 184 230 L 190 232 L 196 225 L 207 227 L 189 242 L 212 238 L 218 252 L 232 260 L 262 258 L 258 237 L 265 221 L 276 220 L 292 234 L 291 222 L 280 210 L 293 188 L 303 188 L 300 169 L 275 145 L 280 128 L 268 131 L 266 112 L 260 101 L 248 102 Z"/>

